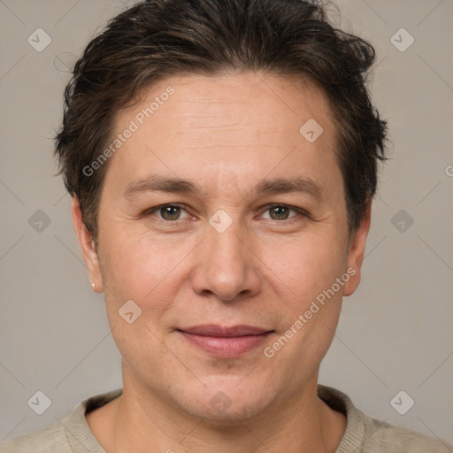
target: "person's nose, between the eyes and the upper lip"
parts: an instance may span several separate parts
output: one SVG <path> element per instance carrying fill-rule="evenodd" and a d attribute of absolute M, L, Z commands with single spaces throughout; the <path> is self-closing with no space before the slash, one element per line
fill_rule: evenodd
<path fill-rule="evenodd" d="M 226 302 L 256 295 L 262 285 L 256 240 L 246 233 L 239 219 L 220 231 L 207 226 L 192 274 L 194 291 L 198 295 L 215 294 Z"/>

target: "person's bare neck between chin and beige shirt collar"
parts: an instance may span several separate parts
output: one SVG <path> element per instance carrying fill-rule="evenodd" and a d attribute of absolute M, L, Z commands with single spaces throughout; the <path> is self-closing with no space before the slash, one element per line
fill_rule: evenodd
<path fill-rule="evenodd" d="M 103 414 L 104 430 L 92 428 L 111 453 L 334 453 L 346 418 L 318 398 L 317 379 L 315 373 L 295 394 L 253 417 L 213 420 L 182 411 L 125 373 L 123 394 Z"/>

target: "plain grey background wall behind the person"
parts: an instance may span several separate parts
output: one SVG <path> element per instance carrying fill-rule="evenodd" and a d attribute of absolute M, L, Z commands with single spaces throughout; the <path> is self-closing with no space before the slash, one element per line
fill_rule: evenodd
<path fill-rule="evenodd" d="M 67 66 L 133 3 L 0 0 L 0 441 L 121 387 L 104 299 L 89 288 L 71 200 L 53 176 L 51 138 Z M 371 88 L 389 121 L 392 159 L 373 205 L 363 280 L 344 299 L 319 381 L 376 418 L 453 441 L 453 2 L 336 4 L 337 23 L 377 49 Z M 51 38 L 42 52 L 27 42 L 38 27 Z M 391 42 L 402 27 L 415 39 L 405 51 Z M 400 35 L 401 46 L 408 35 Z M 38 210 L 50 220 L 41 232 L 29 223 Z M 52 402 L 41 416 L 27 405 L 37 390 Z M 400 390 L 415 401 L 405 415 L 390 404 Z"/>

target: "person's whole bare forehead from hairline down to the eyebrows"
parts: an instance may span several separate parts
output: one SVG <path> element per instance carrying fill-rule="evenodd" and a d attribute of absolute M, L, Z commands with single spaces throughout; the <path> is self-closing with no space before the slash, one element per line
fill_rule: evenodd
<path fill-rule="evenodd" d="M 168 77 L 119 111 L 111 139 L 132 124 L 107 172 L 123 188 L 147 173 L 220 186 L 232 182 L 228 175 L 245 183 L 268 173 L 297 177 L 297 169 L 310 176 L 336 162 L 324 94 L 311 82 L 268 73 Z M 313 141 L 307 132 L 322 133 Z"/>

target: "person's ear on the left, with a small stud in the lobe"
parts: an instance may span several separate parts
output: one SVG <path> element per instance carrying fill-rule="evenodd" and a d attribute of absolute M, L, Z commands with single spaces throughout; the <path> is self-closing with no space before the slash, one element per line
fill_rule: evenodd
<path fill-rule="evenodd" d="M 89 280 L 91 280 L 92 284 L 95 283 L 96 286 L 94 290 L 96 291 L 96 293 L 102 293 L 103 280 L 101 277 L 101 270 L 99 260 L 97 258 L 95 242 L 91 233 L 89 233 L 87 226 L 85 226 L 85 223 L 83 222 L 83 219 L 81 217 L 81 206 L 76 196 L 73 196 L 72 213 L 75 234 L 77 235 L 77 239 L 81 247 L 83 260 L 85 261 L 85 264 L 88 268 Z"/>

